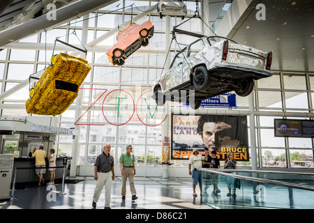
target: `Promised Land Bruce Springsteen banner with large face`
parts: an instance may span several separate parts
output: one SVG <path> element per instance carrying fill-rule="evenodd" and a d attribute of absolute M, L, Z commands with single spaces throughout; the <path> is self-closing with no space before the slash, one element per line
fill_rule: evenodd
<path fill-rule="evenodd" d="M 248 161 L 248 124 L 246 116 L 172 115 L 172 160 L 188 160 L 193 148 L 216 151 L 219 160 L 234 153 L 234 160 Z"/>

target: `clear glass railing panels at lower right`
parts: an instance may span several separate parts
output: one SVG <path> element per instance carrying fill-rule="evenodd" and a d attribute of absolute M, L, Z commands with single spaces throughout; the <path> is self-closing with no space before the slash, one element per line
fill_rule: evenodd
<path fill-rule="evenodd" d="M 314 209 L 314 174 L 202 169 L 202 202 L 216 209 Z"/>

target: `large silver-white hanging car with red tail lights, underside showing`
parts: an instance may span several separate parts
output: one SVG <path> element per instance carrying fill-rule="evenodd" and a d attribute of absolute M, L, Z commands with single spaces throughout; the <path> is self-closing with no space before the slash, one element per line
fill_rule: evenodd
<path fill-rule="evenodd" d="M 158 105 L 165 100 L 189 102 L 194 98 L 190 102 L 193 109 L 198 109 L 202 100 L 230 91 L 245 97 L 253 91 L 254 80 L 273 75 L 271 61 L 272 52 L 219 36 L 199 38 L 174 56 L 170 69 L 152 84 L 153 97 Z M 180 98 L 183 91 L 187 100 Z"/>

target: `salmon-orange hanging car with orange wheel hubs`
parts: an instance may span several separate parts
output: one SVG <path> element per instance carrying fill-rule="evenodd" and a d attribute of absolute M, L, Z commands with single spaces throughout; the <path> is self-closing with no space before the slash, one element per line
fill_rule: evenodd
<path fill-rule="evenodd" d="M 154 25 L 150 20 L 143 24 L 131 24 L 117 35 L 117 43 L 107 51 L 108 60 L 112 65 L 124 65 L 124 61 L 141 46 L 149 44 L 154 35 Z"/>

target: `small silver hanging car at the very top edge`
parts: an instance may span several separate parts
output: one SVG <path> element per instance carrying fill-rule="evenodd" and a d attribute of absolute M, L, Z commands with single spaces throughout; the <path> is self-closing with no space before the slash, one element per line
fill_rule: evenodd
<path fill-rule="evenodd" d="M 160 0 L 157 11 L 160 19 L 164 15 L 170 15 L 181 17 L 184 20 L 187 13 L 186 4 L 182 0 Z"/>

